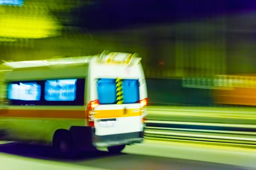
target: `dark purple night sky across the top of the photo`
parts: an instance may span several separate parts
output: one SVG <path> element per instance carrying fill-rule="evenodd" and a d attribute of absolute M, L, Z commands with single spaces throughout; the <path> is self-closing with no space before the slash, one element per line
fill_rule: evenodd
<path fill-rule="evenodd" d="M 175 23 L 256 10 L 256 0 L 96 0 L 73 9 L 72 25 L 89 30 Z"/>

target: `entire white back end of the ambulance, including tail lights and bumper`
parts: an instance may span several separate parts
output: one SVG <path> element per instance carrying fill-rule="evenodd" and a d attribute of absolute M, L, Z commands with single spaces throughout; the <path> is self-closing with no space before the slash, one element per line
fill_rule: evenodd
<path fill-rule="evenodd" d="M 141 64 L 96 62 L 90 65 L 89 72 L 88 99 L 92 102 L 88 109 L 88 125 L 95 128 L 94 143 L 110 146 L 141 142 L 142 115 L 147 105 Z"/>

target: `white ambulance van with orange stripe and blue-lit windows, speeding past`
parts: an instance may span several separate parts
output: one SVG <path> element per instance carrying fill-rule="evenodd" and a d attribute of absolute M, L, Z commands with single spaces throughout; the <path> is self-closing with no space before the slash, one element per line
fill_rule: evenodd
<path fill-rule="evenodd" d="M 148 104 L 137 54 L 4 62 L 0 140 L 49 144 L 62 156 L 119 153 L 143 142 Z"/>

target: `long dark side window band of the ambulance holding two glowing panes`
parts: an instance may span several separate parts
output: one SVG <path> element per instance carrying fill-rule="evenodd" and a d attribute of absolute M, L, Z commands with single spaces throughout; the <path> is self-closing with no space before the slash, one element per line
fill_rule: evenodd
<path fill-rule="evenodd" d="M 10 82 L 10 105 L 84 105 L 85 79 Z"/>

